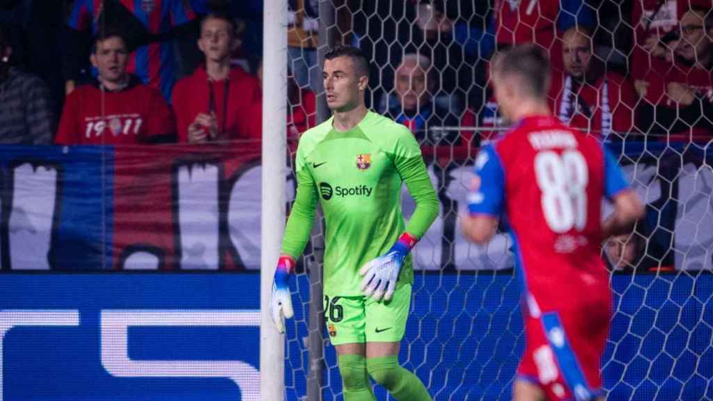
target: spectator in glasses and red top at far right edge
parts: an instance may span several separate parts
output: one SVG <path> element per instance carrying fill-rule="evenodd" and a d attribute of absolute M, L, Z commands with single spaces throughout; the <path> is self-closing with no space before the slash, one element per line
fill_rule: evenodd
<path fill-rule="evenodd" d="M 693 8 L 682 15 L 670 64 L 652 59 L 637 85 L 640 125 L 674 141 L 713 137 L 713 11 Z"/>

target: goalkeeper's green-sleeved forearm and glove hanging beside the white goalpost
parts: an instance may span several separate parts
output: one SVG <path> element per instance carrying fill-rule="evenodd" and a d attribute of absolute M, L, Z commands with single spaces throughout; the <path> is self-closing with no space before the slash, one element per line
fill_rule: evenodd
<path fill-rule="evenodd" d="M 297 196 L 294 198 L 292 211 L 287 218 L 287 227 L 282 237 L 282 250 L 275 270 L 270 297 L 272 323 L 280 333 L 284 333 L 284 319 L 292 318 L 292 300 L 289 294 L 289 275 L 304 246 L 309 240 L 314 221 L 314 209 L 317 206 L 317 193 L 314 180 L 306 168 L 297 172 Z"/>

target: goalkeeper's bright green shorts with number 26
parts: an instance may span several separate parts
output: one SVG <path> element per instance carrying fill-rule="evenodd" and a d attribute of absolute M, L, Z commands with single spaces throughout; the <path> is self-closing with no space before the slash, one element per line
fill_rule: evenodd
<path fill-rule="evenodd" d="M 404 338 L 411 306 L 411 285 L 401 285 L 388 302 L 363 295 L 340 297 L 324 292 L 324 321 L 332 345 L 398 342 Z"/>

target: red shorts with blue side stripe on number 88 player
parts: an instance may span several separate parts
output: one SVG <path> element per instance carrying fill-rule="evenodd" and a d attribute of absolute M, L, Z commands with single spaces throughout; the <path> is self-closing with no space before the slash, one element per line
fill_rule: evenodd
<path fill-rule="evenodd" d="M 548 400 L 593 400 L 602 395 L 600 360 L 609 333 L 611 299 L 525 317 L 525 353 L 518 380 Z"/>

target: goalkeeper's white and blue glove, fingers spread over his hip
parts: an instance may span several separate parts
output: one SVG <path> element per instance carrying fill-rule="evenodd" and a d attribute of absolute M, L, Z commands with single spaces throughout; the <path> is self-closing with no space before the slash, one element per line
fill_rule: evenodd
<path fill-rule="evenodd" d="M 391 299 L 396 290 L 396 281 L 399 280 L 401 265 L 411 248 L 416 245 L 416 241 L 418 238 L 409 233 L 401 234 L 386 255 L 371 260 L 359 270 L 359 275 L 364 276 L 364 280 L 361 280 L 361 291 L 364 295 L 376 301 L 381 300 L 381 297 L 384 297 L 384 300 Z"/>

